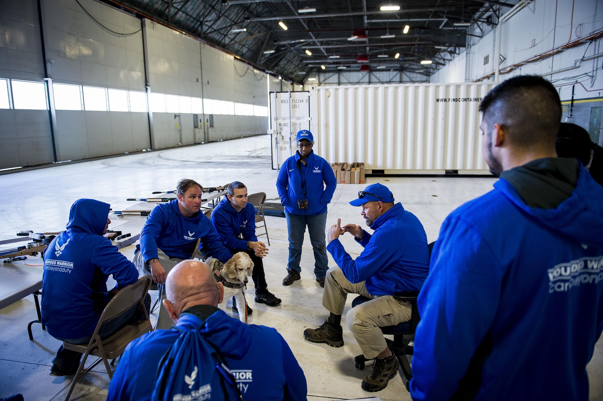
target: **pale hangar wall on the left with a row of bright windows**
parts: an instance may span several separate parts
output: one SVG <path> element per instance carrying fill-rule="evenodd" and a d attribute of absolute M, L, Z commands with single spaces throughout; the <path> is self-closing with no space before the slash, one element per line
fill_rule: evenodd
<path fill-rule="evenodd" d="M 51 89 L 69 84 L 77 86 L 59 89 L 80 92 L 81 105 L 66 107 L 75 110 L 58 110 L 61 107 L 57 105 L 54 129 L 57 161 L 191 145 L 267 131 L 267 114 L 257 108 L 267 108 L 265 73 L 254 71 L 232 55 L 192 37 L 145 20 L 147 84 L 142 21 L 95 0 L 80 2 L 107 28 L 118 33 L 136 33 L 115 36 L 96 25 L 75 1 L 43 0 L 46 34 L 43 46 L 37 1 L 0 2 L 0 29 L 5 33 L 0 36 L 0 148 L 4 154 L 0 169 L 55 161 L 50 110 L 51 101 L 60 94 L 55 92 L 52 99 L 49 96 L 44 79 L 44 47 L 46 59 L 52 60 L 47 64 L 55 84 Z M 280 90 L 281 85 L 283 90 L 291 89 L 287 82 L 274 77 L 270 80 L 270 90 Z M 34 82 L 38 89 L 43 85 L 45 110 L 28 110 L 32 106 L 19 102 L 16 92 L 19 81 L 27 81 L 26 85 Z M 151 113 L 148 113 L 147 85 L 151 96 L 163 96 L 165 110 L 157 111 L 157 105 L 149 98 Z M 87 101 L 87 93 L 94 90 L 101 97 L 105 93 L 106 106 L 101 104 L 101 110 L 90 107 L 92 102 Z M 119 99 L 123 96 L 125 109 L 117 109 L 123 111 L 113 111 L 112 95 L 119 95 Z M 138 99 L 136 107 L 135 99 Z M 200 107 L 204 104 L 200 99 L 209 101 L 207 107 Z M 43 109 L 43 105 L 38 106 Z M 215 110 L 211 110 L 212 106 Z M 194 128 L 194 114 L 199 128 Z M 213 117 L 212 127 L 209 114 Z"/>

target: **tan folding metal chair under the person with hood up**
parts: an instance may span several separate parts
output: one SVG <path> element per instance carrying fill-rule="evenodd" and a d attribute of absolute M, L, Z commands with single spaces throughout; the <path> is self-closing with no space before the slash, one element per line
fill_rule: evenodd
<path fill-rule="evenodd" d="M 90 338 L 90 342 L 87 344 L 87 346 L 85 344 L 78 345 L 65 342 L 63 343 L 63 347 L 65 347 L 65 349 L 84 354 L 84 357 L 81 359 L 80 366 L 77 369 L 77 373 L 75 373 L 74 379 L 71 382 L 71 386 L 69 387 L 69 392 L 65 397 L 65 401 L 68 401 L 69 397 L 71 397 L 71 393 L 75 388 L 75 383 L 77 383 L 81 375 L 92 370 L 92 368 L 98 365 L 101 360 L 105 364 L 105 368 L 109 374 L 109 380 L 112 379 L 113 370 L 111 370 L 111 367 L 109 366 L 109 359 L 115 360 L 118 358 L 118 356 L 121 356 L 121 354 L 124 353 L 125 347 L 127 347 L 130 341 L 136 340 L 136 338 L 140 337 L 141 335 L 153 330 L 153 326 L 151 326 L 151 321 L 149 320 L 147 308 L 145 308 L 144 304 L 145 295 L 148 293 L 151 281 L 153 281 L 151 276 L 143 276 L 134 284 L 128 285 L 119 291 L 119 293 L 115 294 L 109 303 L 107 303 L 107 306 L 105 306 L 105 309 L 101 314 L 98 323 L 96 324 L 96 329 L 94 329 L 92 338 Z M 139 309 L 142 308 L 142 310 L 144 310 L 146 319 L 139 320 L 138 322 L 130 325 L 125 325 L 109 338 L 101 340 L 101 337 L 98 335 L 98 331 L 103 323 L 127 311 L 136 304 L 139 305 Z M 84 369 L 88 355 L 99 356 L 101 359 Z"/>

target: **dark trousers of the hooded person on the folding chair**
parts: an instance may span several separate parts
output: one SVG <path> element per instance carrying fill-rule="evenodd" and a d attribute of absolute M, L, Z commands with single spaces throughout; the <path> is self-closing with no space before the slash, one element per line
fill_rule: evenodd
<path fill-rule="evenodd" d="M 150 311 L 151 296 L 149 294 L 145 296 L 144 304 L 145 308 L 147 308 L 147 311 Z M 136 313 L 137 308 L 138 304 L 133 305 L 127 311 L 121 312 L 118 316 L 113 317 L 113 319 L 104 322 L 98 329 L 98 335 L 101 340 L 111 337 L 111 335 L 113 335 L 115 332 L 125 326 L 125 324 L 128 323 L 131 319 L 146 319 L 144 312 L 140 312 L 139 315 L 134 316 L 134 313 Z M 59 341 L 64 341 L 65 343 L 70 344 L 88 344 L 90 343 L 90 339 L 92 339 L 92 333 L 90 333 L 90 335 L 86 337 L 75 338 L 73 340 L 66 338 L 57 338 L 57 340 Z M 65 349 L 65 347 L 61 345 L 61 347 L 57 351 L 57 356 L 52 359 L 52 364 L 62 368 L 66 372 L 76 370 L 78 365 L 80 364 L 81 355 L 81 352 Z"/>

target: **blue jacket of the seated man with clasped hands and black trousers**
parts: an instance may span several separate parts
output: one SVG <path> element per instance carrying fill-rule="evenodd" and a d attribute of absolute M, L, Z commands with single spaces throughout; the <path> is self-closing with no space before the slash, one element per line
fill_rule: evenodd
<path fill-rule="evenodd" d="M 247 249 L 248 241 L 257 241 L 256 209 L 249 202 L 238 212 L 232 207 L 228 198 L 224 197 L 213 209 L 212 224 L 230 253 Z M 238 238 L 241 234 L 242 240 Z"/>

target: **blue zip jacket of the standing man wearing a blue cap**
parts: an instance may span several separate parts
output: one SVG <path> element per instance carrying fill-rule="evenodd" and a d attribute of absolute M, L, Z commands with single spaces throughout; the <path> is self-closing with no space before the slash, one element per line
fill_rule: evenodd
<path fill-rule="evenodd" d="M 308 168 L 303 183 L 305 185 L 302 185 L 300 158 L 299 152 L 295 152 L 295 155 L 280 166 L 276 179 L 280 203 L 291 214 L 323 214 L 327 211 L 327 205 L 331 202 L 337 186 L 333 169 L 326 160 L 312 151 L 306 159 Z M 308 209 L 298 208 L 297 201 L 304 199 L 308 199 Z"/>

